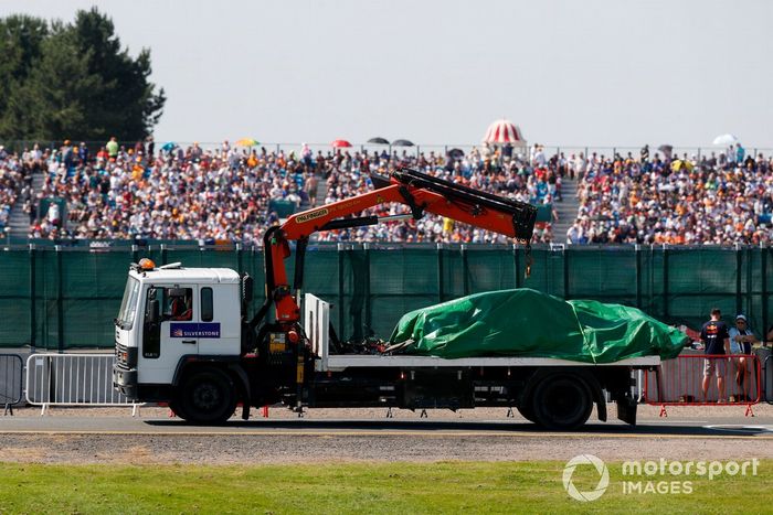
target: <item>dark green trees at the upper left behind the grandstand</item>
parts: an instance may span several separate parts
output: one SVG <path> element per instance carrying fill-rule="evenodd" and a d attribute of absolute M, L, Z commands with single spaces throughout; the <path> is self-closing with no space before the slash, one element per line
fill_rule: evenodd
<path fill-rule="evenodd" d="M 136 140 L 161 116 L 150 52 L 133 58 L 96 8 L 66 24 L 0 19 L 0 139 Z"/>

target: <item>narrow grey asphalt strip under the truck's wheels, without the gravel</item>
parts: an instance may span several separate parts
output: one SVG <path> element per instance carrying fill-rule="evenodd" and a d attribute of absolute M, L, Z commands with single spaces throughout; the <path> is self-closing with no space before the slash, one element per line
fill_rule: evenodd
<path fill-rule="evenodd" d="M 501 420 L 396 419 L 262 419 L 233 418 L 224 426 L 191 426 L 161 417 L 59 417 L 31 415 L 0 418 L 0 434 L 8 433 L 124 433 L 124 434 L 435 434 L 435 436 L 562 436 L 596 438 L 643 437 L 755 437 L 773 440 L 773 417 L 703 417 L 639 419 L 636 427 L 618 421 L 589 422 L 578 431 L 544 431 L 520 417 Z"/>

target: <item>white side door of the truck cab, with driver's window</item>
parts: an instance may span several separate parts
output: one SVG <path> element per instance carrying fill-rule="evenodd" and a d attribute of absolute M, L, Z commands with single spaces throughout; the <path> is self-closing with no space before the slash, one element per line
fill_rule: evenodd
<path fill-rule="evenodd" d="M 140 383 L 171 383 L 180 357 L 199 354 L 199 303 L 195 285 L 153 285 L 149 288 L 142 346 Z M 157 302 L 160 313 L 153 323 Z"/>

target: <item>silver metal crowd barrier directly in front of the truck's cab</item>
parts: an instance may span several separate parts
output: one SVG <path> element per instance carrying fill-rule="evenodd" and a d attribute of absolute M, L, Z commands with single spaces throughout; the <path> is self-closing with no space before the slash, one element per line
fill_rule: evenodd
<path fill-rule="evenodd" d="M 41 406 L 131 407 L 113 388 L 113 354 L 32 354 L 27 358 L 27 401 Z"/>

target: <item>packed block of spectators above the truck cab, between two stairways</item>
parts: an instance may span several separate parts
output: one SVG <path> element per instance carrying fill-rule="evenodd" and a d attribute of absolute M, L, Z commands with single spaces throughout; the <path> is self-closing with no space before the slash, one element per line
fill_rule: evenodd
<path fill-rule="evenodd" d="M 51 204 L 31 227 L 34 238 L 198 239 L 253 243 L 277 221 L 272 199 L 300 205 L 303 170 L 283 153 L 248 151 L 223 142 L 204 150 L 131 148 L 115 141 L 92 159 L 68 141 L 46 160 L 38 196 Z"/>

